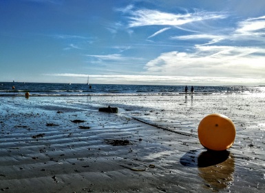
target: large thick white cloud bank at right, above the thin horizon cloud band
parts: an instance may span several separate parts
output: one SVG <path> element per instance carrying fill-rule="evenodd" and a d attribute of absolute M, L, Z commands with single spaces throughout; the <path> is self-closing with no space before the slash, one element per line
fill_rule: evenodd
<path fill-rule="evenodd" d="M 193 52 L 167 52 L 149 61 L 149 74 L 202 77 L 264 77 L 265 48 L 198 45 Z"/>

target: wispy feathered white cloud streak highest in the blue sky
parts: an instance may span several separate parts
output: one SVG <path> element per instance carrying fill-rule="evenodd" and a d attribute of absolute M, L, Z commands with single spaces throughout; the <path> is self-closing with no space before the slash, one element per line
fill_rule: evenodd
<path fill-rule="evenodd" d="M 160 12 L 158 10 L 136 10 L 131 11 L 129 17 L 129 28 L 138 26 L 181 26 L 194 21 L 203 21 L 206 19 L 224 19 L 224 14 L 213 12 L 194 12 L 186 14 L 172 14 Z"/>

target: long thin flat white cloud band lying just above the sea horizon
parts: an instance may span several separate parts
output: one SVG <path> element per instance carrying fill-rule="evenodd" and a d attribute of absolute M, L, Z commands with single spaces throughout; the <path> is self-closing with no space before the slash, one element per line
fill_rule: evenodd
<path fill-rule="evenodd" d="M 45 76 L 62 77 L 65 82 L 86 83 L 88 74 L 44 74 Z M 64 78 L 65 77 L 65 78 Z M 79 80 L 79 82 L 76 82 Z M 123 83 L 123 84 L 157 84 L 157 85 L 261 85 L 265 79 L 260 77 L 187 77 L 156 75 L 102 75 L 89 74 L 90 83 Z"/>

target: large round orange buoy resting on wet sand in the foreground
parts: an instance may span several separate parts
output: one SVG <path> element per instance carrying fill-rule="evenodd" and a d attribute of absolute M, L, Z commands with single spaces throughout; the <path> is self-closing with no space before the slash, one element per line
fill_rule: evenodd
<path fill-rule="evenodd" d="M 200 121 L 198 138 L 206 149 L 227 150 L 235 141 L 235 125 L 223 114 L 209 114 Z"/>

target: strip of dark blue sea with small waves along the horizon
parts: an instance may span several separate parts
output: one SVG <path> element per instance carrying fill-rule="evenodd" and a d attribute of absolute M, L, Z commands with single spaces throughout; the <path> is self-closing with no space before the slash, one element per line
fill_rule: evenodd
<path fill-rule="evenodd" d="M 82 83 L 0 82 L 0 96 L 112 96 L 186 94 L 185 85 L 119 85 Z M 188 86 L 191 94 L 191 85 Z M 265 86 L 193 85 L 193 94 L 265 94 Z"/>

